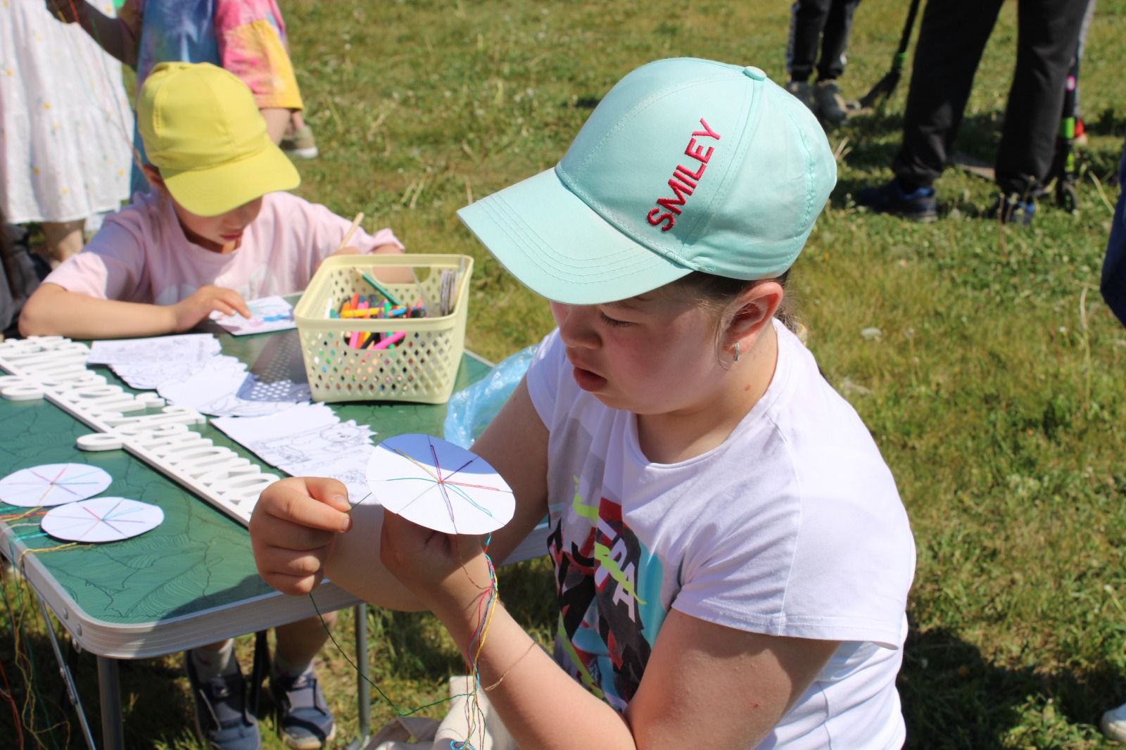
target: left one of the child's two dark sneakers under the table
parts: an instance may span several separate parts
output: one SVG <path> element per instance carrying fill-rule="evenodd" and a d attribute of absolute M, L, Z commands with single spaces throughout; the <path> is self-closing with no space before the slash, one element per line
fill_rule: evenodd
<path fill-rule="evenodd" d="M 213 750 L 259 750 L 258 722 L 247 711 L 247 684 L 242 672 L 200 681 L 191 652 L 184 653 L 184 668 L 191 685 L 199 741 Z"/>

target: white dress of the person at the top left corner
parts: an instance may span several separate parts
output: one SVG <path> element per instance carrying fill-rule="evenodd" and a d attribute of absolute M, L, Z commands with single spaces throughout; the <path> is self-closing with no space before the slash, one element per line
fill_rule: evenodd
<path fill-rule="evenodd" d="M 97 0 L 114 14 L 111 0 Z M 66 222 L 128 197 L 133 114 L 122 65 L 43 0 L 0 0 L 0 208 Z"/>

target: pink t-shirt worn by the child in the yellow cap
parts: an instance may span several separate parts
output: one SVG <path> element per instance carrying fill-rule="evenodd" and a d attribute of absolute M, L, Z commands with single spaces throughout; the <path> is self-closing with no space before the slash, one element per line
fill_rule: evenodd
<path fill-rule="evenodd" d="M 188 241 L 171 200 L 137 194 L 44 283 L 91 297 L 159 305 L 208 284 L 234 289 L 243 300 L 292 294 L 309 285 L 316 264 L 336 251 L 349 225 L 322 205 L 270 193 L 239 249 L 218 253 Z M 388 229 L 375 234 L 357 229 L 349 244 L 360 252 L 403 247 Z"/>

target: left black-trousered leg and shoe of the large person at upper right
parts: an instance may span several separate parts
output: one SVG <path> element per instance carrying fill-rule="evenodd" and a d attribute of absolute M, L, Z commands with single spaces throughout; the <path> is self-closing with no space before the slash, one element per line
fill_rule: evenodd
<path fill-rule="evenodd" d="M 857 204 L 915 221 L 933 221 L 933 184 L 962 125 L 982 51 L 1002 0 L 931 0 L 915 43 L 895 179 L 857 195 Z"/>

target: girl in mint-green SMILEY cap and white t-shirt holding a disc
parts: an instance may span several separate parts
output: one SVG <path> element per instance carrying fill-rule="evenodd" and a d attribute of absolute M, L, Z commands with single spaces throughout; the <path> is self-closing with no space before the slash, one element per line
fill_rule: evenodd
<path fill-rule="evenodd" d="M 665 60 L 554 169 L 463 209 L 557 324 L 473 446 L 516 497 L 493 560 L 547 518 L 553 653 L 499 602 L 481 636 L 482 539 L 349 514 L 332 480 L 262 493 L 262 577 L 432 611 L 480 670 L 493 747 L 900 747 L 906 514 L 779 320 L 832 164 L 762 71 Z"/>

